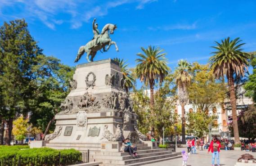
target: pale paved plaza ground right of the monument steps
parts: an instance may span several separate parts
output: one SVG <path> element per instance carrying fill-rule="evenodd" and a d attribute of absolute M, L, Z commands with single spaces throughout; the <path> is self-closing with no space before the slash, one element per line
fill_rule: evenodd
<path fill-rule="evenodd" d="M 185 148 L 178 148 L 177 152 L 186 150 Z M 211 166 L 211 153 L 207 154 L 207 150 L 198 151 L 198 154 L 190 154 L 188 160 L 188 166 Z M 234 150 L 221 150 L 220 151 L 220 166 L 234 166 L 237 159 L 245 153 L 252 154 L 256 157 L 256 153 L 245 152 L 245 151 L 234 151 Z M 157 162 L 148 164 L 145 166 L 182 166 L 182 158 L 174 160 L 167 160 L 164 162 Z M 217 165 L 216 165 L 217 166 Z"/>

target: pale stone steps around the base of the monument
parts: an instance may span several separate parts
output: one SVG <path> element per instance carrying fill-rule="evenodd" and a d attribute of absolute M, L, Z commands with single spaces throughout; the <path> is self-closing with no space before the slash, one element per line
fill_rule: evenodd
<path fill-rule="evenodd" d="M 167 151 L 165 148 L 155 148 L 148 144 L 137 144 L 139 158 L 133 158 L 127 152 L 100 151 L 100 144 L 61 144 L 50 143 L 46 147 L 54 149 L 74 148 L 81 152 L 90 150 L 90 162 L 102 162 L 102 166 L 141 166 L 154 162 L 162 162 L 181 157 L 180 153 Z"/>

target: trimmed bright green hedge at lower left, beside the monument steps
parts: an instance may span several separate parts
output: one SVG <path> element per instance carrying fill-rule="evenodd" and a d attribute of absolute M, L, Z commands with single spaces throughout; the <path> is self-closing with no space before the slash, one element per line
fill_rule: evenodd
<path fill-rule="evenodd" d="M 0 166 L 20 162 L 21 166 L 76 164 L 81 162 L 81 152 L 75 149 L 29 148 L 28 146 L 0 146 Z M 8 164 L 7 164 L 8 161 Z M 12 164 L 13 165 L 13 164 Z M 18 165 L 18 164 L 17 164 Z"/>

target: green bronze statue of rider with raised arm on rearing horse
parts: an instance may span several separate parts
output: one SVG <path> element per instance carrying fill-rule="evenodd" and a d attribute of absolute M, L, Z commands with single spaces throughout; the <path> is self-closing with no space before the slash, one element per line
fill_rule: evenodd
<path fill-rule="evenodd" d="M 110 34 L 113 34 L 114 31 L 117 29 L 117 25 L 114 24 L 106 24 L 102 31 L 101 34 L 99 34 L 98 30 L 98 24 L 95 24 L 96 19 L 94 18 L 93 21 L 93 32 L 94 32 L 94 37 L 93 40 L 90 40 L 86 45 L 83 45 L 79 48 L 78 53 L 76 55 L 75 62 L 78 62 L 79 59 L 83 54 L 87 54 L 86 59 L 88 62 L 93 62 L 93 58 L 96 55 L 97 51 L 103 49 L 103 51 L 108 51 L 111 45 L 116 46 L 116 50 L 118 51 L 118 47 L 115 41 L 112 41 L 112 39 L 109 36 L 109 31 Z M 105 46 L 108 46 L 107 49 L 105 49 Z M 90 59 L 89 59 L 90 57 Z"/>

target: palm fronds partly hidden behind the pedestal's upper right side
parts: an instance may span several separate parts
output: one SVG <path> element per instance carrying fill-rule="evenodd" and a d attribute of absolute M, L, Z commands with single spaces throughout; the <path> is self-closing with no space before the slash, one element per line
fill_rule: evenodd
<path fill-rule="evenodd" d="M 121 72 L 123 73 L 124 79 L 124 89 L 126 93 L 133 87 L 135 78 L 131 74 L 131 70 L 127 67 L 126 61 L 120 58 L 114 58 L 114 61 L 119 63 L 119 67 L 121 68 Z"/>

